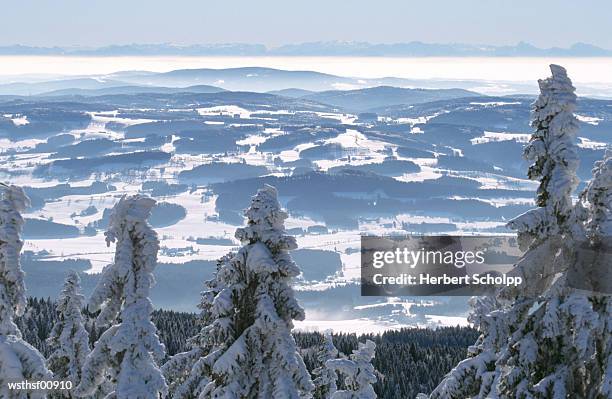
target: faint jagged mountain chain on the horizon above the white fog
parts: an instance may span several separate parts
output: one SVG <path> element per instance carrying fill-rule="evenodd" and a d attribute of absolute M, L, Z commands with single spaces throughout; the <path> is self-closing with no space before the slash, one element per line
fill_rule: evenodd
<path fill-rule="evenodd" d="M 106 47 L 0 47 L 0 55 L 74 55 L 74 56 L 366 56 L 366 57 L 610 57 L 612 50 L 587 43 L 568 48 L 538 48 L 529 43 L 493 46 L 475 44 L 437 44 L 423 42 L 372 44 L 367 42 L 312 42 L 266 47 L 263 44 L 126 44 Z"/>

